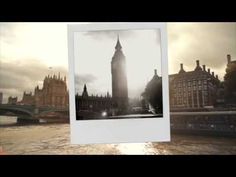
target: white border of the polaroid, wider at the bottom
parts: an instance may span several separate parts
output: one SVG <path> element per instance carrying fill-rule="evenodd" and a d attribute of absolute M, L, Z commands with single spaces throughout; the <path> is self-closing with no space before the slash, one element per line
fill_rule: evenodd
<path fill-rule="evenodd" d="M 74 33 L 105 30 L 159 29 L 161 35 L 161 65 L 163 118 L 76 120 Z M 68 25 L 69 103 L 71 144 L 145 143 L 170 141 L 168 50 L 166 23 L 91 23 Z"/>

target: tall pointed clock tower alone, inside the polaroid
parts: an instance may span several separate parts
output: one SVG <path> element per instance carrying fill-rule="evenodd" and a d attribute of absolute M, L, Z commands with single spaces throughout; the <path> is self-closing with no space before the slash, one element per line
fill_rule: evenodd
<path fill-rule="evenodd" d="M 111 61 L 112 99 L 114 108 L 119 114 L 125 114 L 128 109 L 128 87 L 126 76 L 126 61 L 122 52 L 119 36 L 115 46 L 115 53 Z"/>

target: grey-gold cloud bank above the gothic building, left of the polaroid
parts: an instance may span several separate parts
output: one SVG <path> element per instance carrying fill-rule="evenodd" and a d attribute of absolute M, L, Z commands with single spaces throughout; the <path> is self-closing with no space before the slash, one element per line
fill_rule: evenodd
<path fill-rule="evenodd" d="M 67 70 L 63 67 L 54 67 L 49 70 L 48 66 L 37 59 L 16 60 L 7 63 L 0 61 L 0 92 L 3 92 L 4 102 L 9 96 L 22 98 L 24 91 L 34 91 L 39 85 L 42 87 L 43 79 L 48 74 L 67 76 Z"/>

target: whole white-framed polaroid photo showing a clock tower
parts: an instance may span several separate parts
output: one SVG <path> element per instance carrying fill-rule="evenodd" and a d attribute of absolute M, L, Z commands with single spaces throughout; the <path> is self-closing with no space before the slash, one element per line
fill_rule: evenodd
<path fill-rule="evenodd" d="M 68 25 L 72 144 L 170 141 L 165 23 Z"/>

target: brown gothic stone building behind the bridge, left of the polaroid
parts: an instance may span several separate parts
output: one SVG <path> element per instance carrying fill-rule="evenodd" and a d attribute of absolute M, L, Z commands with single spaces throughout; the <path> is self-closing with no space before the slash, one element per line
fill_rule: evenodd
<path fill-rule="evenodd" d="M 42 89 L 36 86 L 34 95 L 31 92 L 24 92 L 20 104 L 35 105 L 37 107 L 68 107 L 69 94 L 66 86 L 66 77 L 61 78 L 60 73 L 58 76 L 46 76 L 43 81 Z"/>

